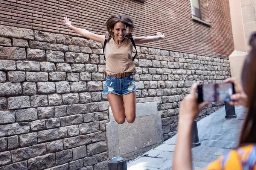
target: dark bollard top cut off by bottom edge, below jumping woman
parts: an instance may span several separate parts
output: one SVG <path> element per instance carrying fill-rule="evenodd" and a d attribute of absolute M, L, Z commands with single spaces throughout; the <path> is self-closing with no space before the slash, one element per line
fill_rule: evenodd
<path fill-rule="evenodd" d="M 126 159 L 121 156 L 110 159 L 108 161 L 108 170 L 127 170 Z"/>

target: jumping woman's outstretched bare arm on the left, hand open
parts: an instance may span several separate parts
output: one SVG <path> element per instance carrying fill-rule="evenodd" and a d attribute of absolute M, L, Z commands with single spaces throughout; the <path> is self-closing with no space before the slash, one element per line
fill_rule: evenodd
<path fill-rule="evenodd" d="M 103 43 L 104 42 L 104 38 L 105 36 L 104 35 L 98 35 L 98 34 L 95 34 L 95 33 L 92 33 L 86 29 L 82 29 L 82 28 L 77 28 L 77 27 L 74 27 L 72 26 L 71 24 L 71 21 L 69 21 L 69 18 L 67 17 L 64 17 L 64 24 L 69 27 L 70 29 L 72 29 L 73 31 L 75 31 L 76 33 L 79 33 L 80 35 L 88 38 L 88 39 L 91 39 L 93 41 L 97 41 L 99 43 Z"/>

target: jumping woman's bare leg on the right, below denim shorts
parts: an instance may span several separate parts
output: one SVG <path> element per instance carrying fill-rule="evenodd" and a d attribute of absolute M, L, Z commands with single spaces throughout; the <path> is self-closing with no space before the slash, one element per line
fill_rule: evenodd
<path fill-rule="evenodd" d="M 136 118 L 136 92 L 123 95 L 125 117 L 128 123 L 133 123 Z"/>

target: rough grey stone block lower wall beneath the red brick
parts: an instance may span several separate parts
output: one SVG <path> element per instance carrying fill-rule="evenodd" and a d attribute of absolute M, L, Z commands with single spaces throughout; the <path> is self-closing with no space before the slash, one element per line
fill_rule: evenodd
<path fill-rule="evenodd" d="M 165 140 L 175 134 L 192 83 L 230 75 L 227 59 L 137 50 L 137 102 L 157 101 Z M 104 67 L 99 43 L 0 25 L 0 170 L 107 169 Z"/>

